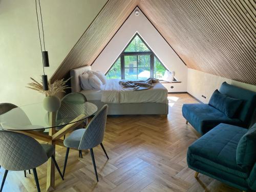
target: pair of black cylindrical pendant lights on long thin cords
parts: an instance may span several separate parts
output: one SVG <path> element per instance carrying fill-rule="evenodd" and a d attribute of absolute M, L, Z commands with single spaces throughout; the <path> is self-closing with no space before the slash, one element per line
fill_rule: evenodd
<path fill-rule="evenodd" d="M 39 10 L 40 10 L 41 24 L 42 24 L 42 13 L 41 13 L 40 0 L 38 0 L 38 4 L 39 4 Z M 44 43 L 44 51 L 42 51 L 42 42 L 41 42 L 38 12 L 37 12 L 37 0 L 35 0 L 35 9 L 36 9 L 36 18 L 37 18 L 37 27 L 38 27 L 38 33 L 39 33 L 40 48 L 41 48 L 41 54 L 42 54 L 42 70 L 44 72 L 44 75 L 42 75 L 42 87 L 45 91 L 47 91 L 47 90 L 49 90 L 49 88 L 48 88 L 48 78 L 47 78 L 47 75 L 45 74 L 45 67 L 49 67 L 50 65 L 49 65 L 48 51 L 46 51 L 46 47 L 45 47 L 45 34 L 44 34 L 43 26 L 42 26 L 42 38 L 43 38 L 43 43 Z"/>

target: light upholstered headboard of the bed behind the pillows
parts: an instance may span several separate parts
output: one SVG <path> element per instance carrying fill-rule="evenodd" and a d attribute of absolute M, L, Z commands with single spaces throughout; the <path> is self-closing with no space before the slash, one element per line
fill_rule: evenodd
<path fill-rule="evenodd" d="M 91 66 L 83 66 L 80 68 L 70 70 L 71 91 L 72 92 L 80 92 L 81 91 L 79 75 L 81 75 L 84 72 L 89 71 L 89 70 L 92 70 Z"/>

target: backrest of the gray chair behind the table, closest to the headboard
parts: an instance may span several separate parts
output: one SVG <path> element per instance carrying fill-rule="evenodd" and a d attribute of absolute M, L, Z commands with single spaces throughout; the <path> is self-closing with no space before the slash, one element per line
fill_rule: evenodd
<path fill-rule="evenodd" d="M 77 104 L 82 104 L 87 102 L 86 96 L 81 93 L 69 93 L 61 99 L 61 105 L 57 111 L 56 120 L 65 119 L 67 121 L 73 120 L 75 117 L 84 113 L 83 108 L 76 108 L 73 110 L 74 106 Z M 73 119 L 72 119 L 73 118 Z"/>

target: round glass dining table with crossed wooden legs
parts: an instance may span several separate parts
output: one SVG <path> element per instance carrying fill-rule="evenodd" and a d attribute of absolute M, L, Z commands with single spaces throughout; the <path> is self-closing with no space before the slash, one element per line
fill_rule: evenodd
<path fill-rule="evenodd" d="M 64 146 L 61 137 L 83 124 L 97 110 L 97 106 L 90 102 L 62 102 L 59 110 L 48 112 L 42 103 L 34 103 L 19 106 L 0 115 L 0 129 L 23 133 L 54 146 Z M 56 130 L 57 127 L 59 131 Z M 55 166 L 50 158 L 47 162 L 47 191 L 54 190 L 54 184 Z"/>

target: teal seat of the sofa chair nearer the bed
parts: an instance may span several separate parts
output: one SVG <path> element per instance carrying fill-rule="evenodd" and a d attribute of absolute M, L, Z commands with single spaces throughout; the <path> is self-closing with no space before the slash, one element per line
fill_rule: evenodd
<path fill-rule="evenodd" d="M 183 104 L 184 118 L 200 133 L 205 134 L 220 123 L 242 126 L 240 119 L 230 119 L 213 106 L 202 103 Z"/>

